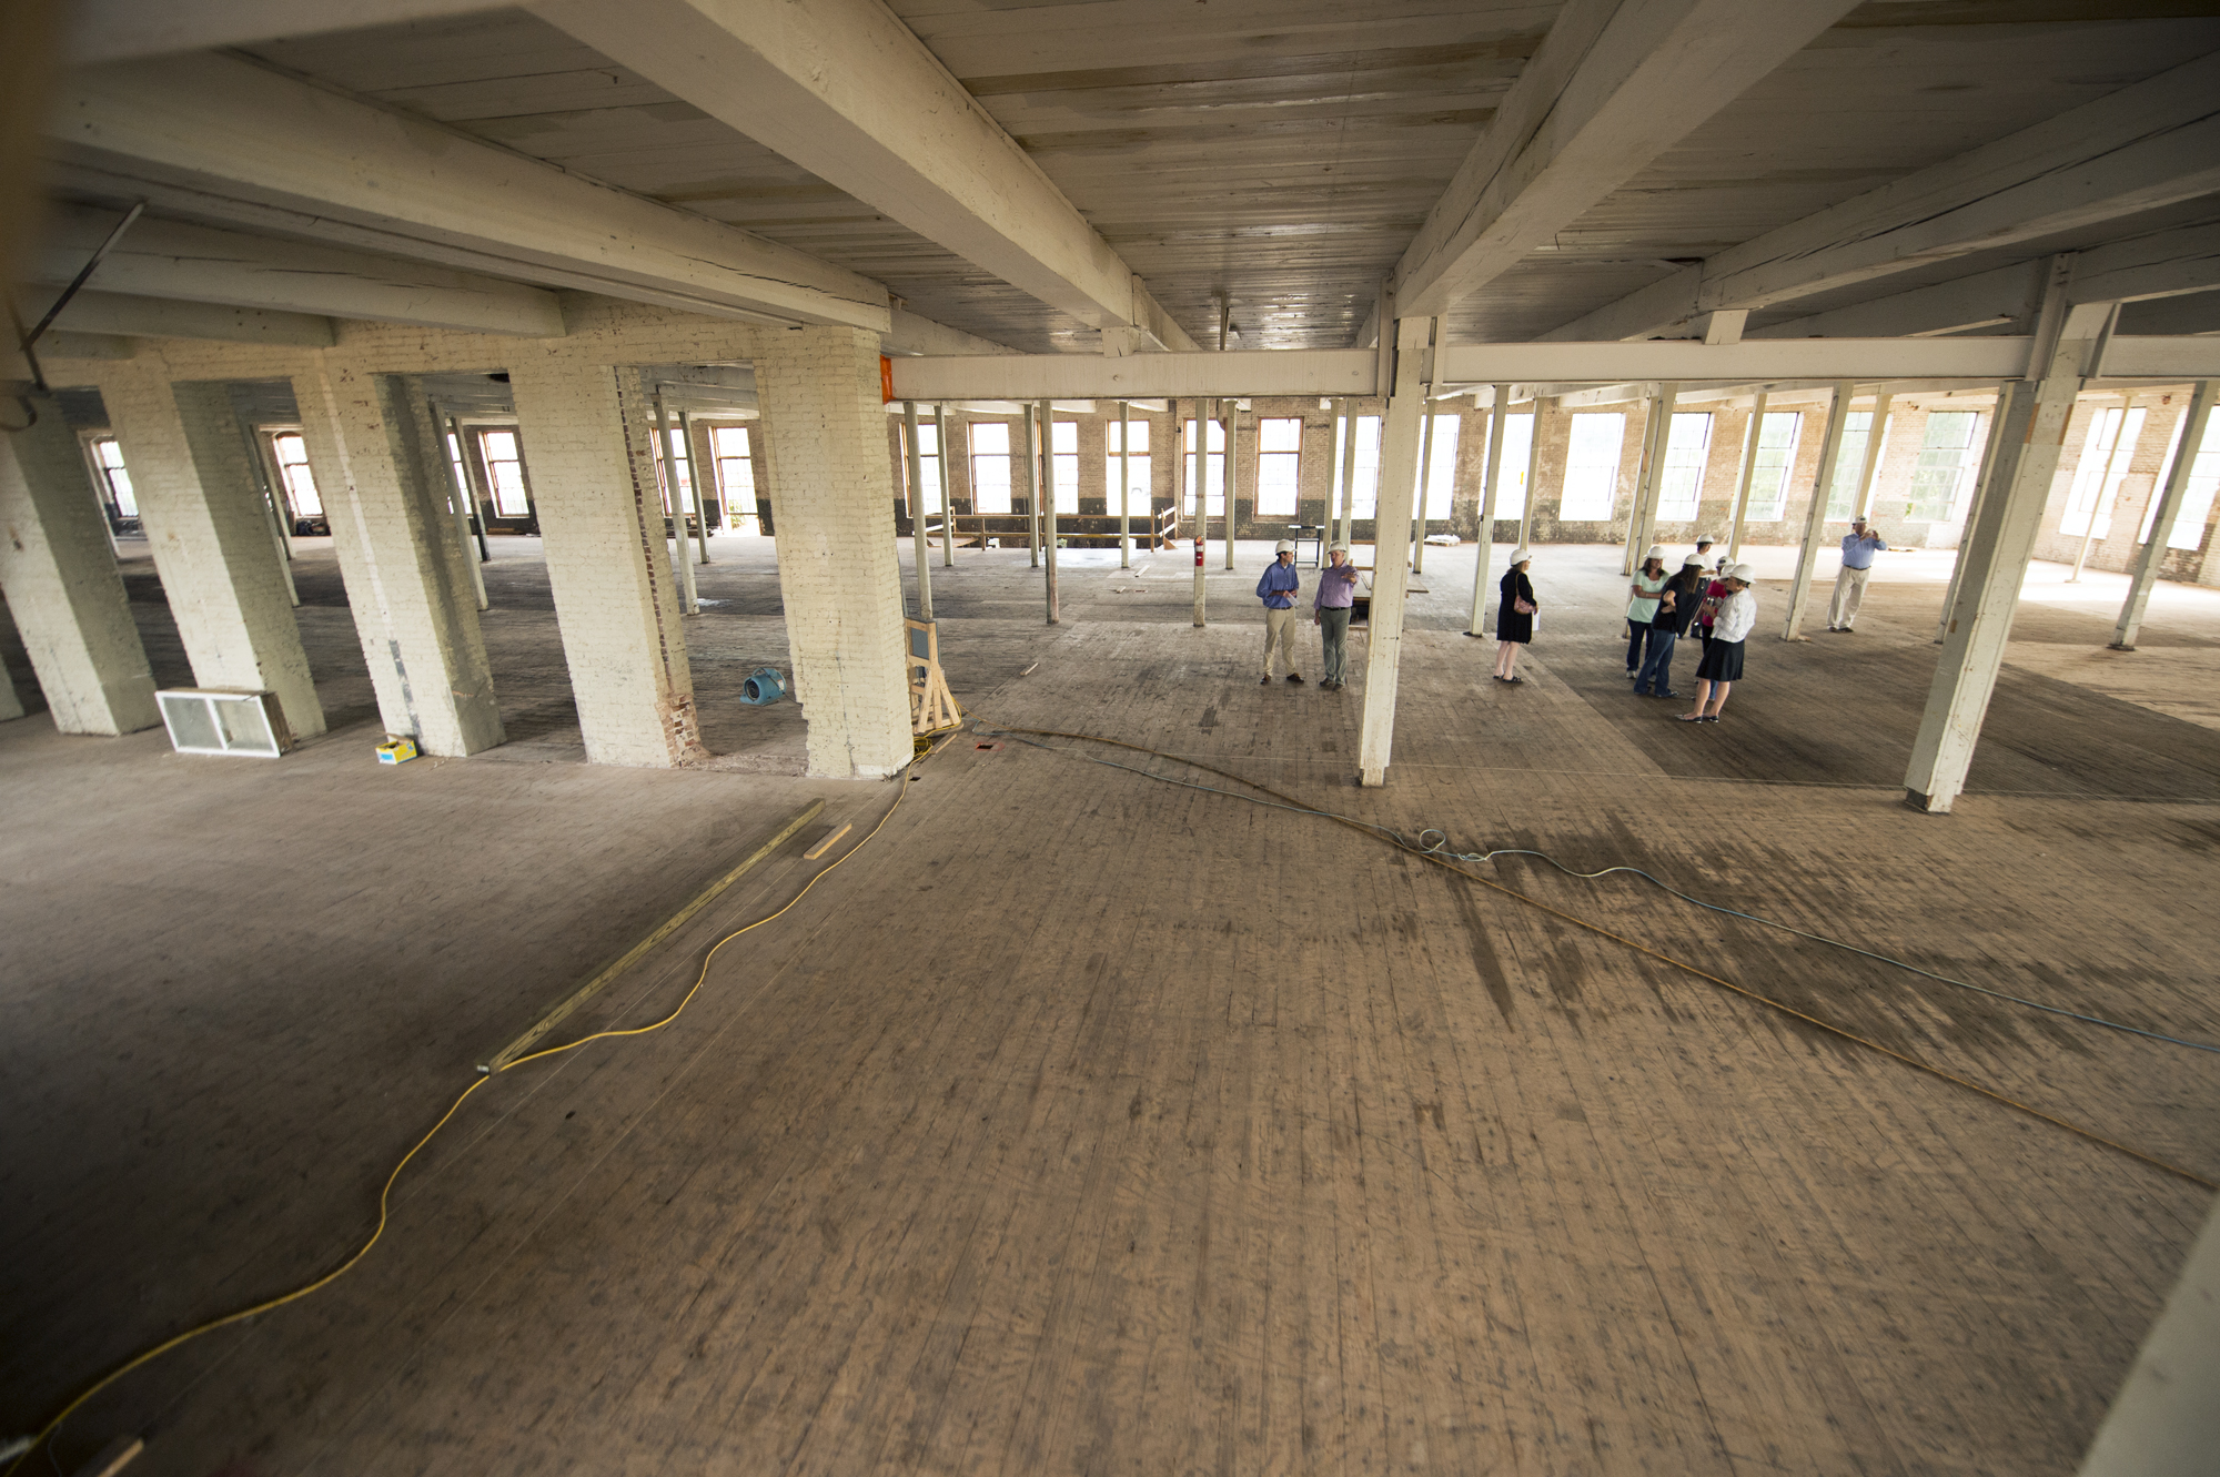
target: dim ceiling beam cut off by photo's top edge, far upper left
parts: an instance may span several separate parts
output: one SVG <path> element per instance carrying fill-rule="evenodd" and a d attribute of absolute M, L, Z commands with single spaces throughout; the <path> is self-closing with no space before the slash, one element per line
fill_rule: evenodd
<path fill-rule="evenodd" d="M 491 9 L 500 7 L 486 0 L 75 0 L 64 53 L 91 67 Z"/>

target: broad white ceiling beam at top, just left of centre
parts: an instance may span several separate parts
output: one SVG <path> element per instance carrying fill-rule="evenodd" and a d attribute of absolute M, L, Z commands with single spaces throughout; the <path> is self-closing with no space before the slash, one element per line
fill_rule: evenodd
<path fill-rule="evenodd" d="M 539 0 L 531 11 L 1090 328 L 1134 326 L 1194 348 L 884 0 Z"/>

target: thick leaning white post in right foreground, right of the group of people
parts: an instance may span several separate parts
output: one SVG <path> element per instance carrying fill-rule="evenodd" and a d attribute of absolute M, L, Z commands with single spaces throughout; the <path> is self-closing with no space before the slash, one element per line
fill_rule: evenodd
<path fill-rule="evenodd" d="M 2060 286 L 2054 277 L 2054 302 L 2062 297 Z M 1947 812 L 1965 790 L 1974 745 L 1989 712 L 1989 694 L 1996 690 L 1996 672 L 2005 663 L 2005 643 L 2011 639 L 2027 559 L 2042 528 L 2042 506 L 2049 501 L 2051 477 L 2065 450 L 2073 397 L 2080 395 L 2082 377 L 2116 310 L 2118 304 L 2065 308 L 2056 348 L 2038 359 L 2045 366 L 2042 379 L 2031 386 L 2034 393 L 2011 399 L 2011 419 L 1998 444 L 2002 450 L 1998 483 L 1982 499 L 1980 517 L 1969 530 L 1965 579 L 1951 605 L 1934 685 L 1927 690 L 1927 712 L 1911 741 L 1905 801 L 1914 809 Z M 2049 304 L 2045 317 L 2054 317 Z M 2005 461 L 2011 464 L 2009 477 Z"/>

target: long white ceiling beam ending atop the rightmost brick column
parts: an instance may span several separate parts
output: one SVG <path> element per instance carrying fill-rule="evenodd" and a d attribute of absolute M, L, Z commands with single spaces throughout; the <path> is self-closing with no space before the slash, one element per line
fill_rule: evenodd
<path fill-rule="evenodd" d="M 75 71 L 47 135 L 64 182 L 80 166 L 178 213 L 719 317 L 890 326 L 868 277 L 229 55 Z"/>

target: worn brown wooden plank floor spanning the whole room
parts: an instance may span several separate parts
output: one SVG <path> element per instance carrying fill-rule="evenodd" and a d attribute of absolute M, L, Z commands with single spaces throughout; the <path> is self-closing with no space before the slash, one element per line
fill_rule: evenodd
<path fill-rule="evenodd" d="M 1891 758 L 1934 663 L 1918 590 L 1836 645 L 1754 643 L 1727 721 L 1692 730 L 1625 692 L 1607 559 L 1561 570 L 1523 687 L 1485 681 L 1492 643 L 1450 625 L 1465 592 L 1443 581 L 1439 619 L 1405 645 L 1390 785 L 1370 792 L 1350 783 L 1359 690 L 1257 683 L 1237 599 L 1252 568 L 1212 577 L 1230 621 L 1203 632 L 1183 621 L 1192 566 L 1170 559 L 1068 570 L 1057 630 L 990 603 L 1026 599 L 1021 557 L 970 590 L 959 572 L 948 650 L 1006 663 L 968 683 L 988 725 L 1205 758 L 1459 849 L 1641 865 L 1927 969 L 2220 1038 L 2220 734 L 2009 676 L 1998 710 L 2025 719 L 1985 743 L 1958 814 L 1918 816 Z M 2211 1204 L 1328 821 L 1090 763 L 1223 785 L 1168 758 L 990 743 L 930 758 L 879 838 L 728 947 L 670 1031 L 471 1098 L 360 1271 L 102 1395 L 64 1461 L 133 1430 L 149 1433 L 135 1473 L 193 1477 L 2062 1475 Z M 0 732 L 0 787 L 95 794 L 189 763 L 142 747 L 91 772 L 93 750 Z M 297 809 L 300 827 L 344 832 L 391 803 L 393 772 L 337 747 L 295 761 L 340 816 Z M 36 1215 L 0 1288 L 11 1428 L 84 1371 L 329 1264 L 488 1031 L 553 994 L 568 954 L 637 936 L 710 852 L 744 849 L 806 794 L 859 829 L 895 796 L 480 761 L 420 778 L 437 783 L 413 801 L 420 829 L 360 865 L 371 885 L 415 856 L 431 880 L 375 889 L 375 927 L 333 938 L 322 969 L 286 974 L 262 938 L 240 985 L 253 1049 L 220 1020 L 164 1016 L 151 945 L 111 958 L 98 931 L 18 1011 L 33 1029 L 9 1047 L 0 1189 Z M 702 787 L 715 812 L 684 865 L 624 887 L 610 874 L 653 849 L 610 836 L 599 872 L 564 876 L 582 865 L 566 832 L 595 836 L 635 803 L 650 829 L 682 816 L 655 785 Z M 528 814 L 539 803 L 575 821 Z M 448 898 L 468 867 L 426 841 L 442 809 L 517 849 L 500 907 Z M 64 841 L 98 854 L 129 834 L 18 838 L 9 880 L 82 880 L 69 867 L 91 863 L 67 863 Z M 342 854 L 329 843 L 320 867 Z M 582 1029 L 650 1018 L 708 940 L 815 869 L 784 854 Z M 1638 880 L 1521 858 L 1481 872 L 2220 1175 L 2211 1056 Z M 36 920 L 11 892 L 0 925 L 22 958 Z M 344 907 L 331 880 L 309 911 Z M 202 978 L 224 947 L 195 956 L 200 1011 L 226 998 Z M 393 954 L 408 967 L 377 962 Z M 231 1082 L 220 1109 L 155 1091 L 180 1080 L 178 1036 Z M 67 1169 L 75 1129 L 56 1102 L 98 1124 L 100 1175 Z M 144 1164 L 111 1142 L 133 1131 L 160 1142 Z M 140 1169 L 164 1184 L 155 1202 L 129 1189 Z"/>

